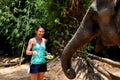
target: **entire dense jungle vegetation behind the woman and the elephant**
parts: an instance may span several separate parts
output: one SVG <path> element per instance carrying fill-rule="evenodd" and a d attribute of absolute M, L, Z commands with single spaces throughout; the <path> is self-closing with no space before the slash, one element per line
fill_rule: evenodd
<path fill-rule="evenodd" d="M 91 0 L 0 0 L 0 54 L 25 53 L 29 38 L 41 25 L 46 29 L 47 51 L 60 55 L 90 4 Z M 94 41 L 85 47 L 93 49 Z"/>

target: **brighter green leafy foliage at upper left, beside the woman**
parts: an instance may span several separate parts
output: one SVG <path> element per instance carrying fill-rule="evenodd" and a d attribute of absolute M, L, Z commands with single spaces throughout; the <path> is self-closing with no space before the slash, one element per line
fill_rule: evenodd
<path fill-rule="evenodd" d="M 43 19 L 46 17 L 43 3 L 43 0 L 0 1 L 3 6 L 0 6 L 0 35 L 9 40 L 13 53 L 20 54 L 27 37 L 34 33 L 36 24 L 46 21 Z"/>

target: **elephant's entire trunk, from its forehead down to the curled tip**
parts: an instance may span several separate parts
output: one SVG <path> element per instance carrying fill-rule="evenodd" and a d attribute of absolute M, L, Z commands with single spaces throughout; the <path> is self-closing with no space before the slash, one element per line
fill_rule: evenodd
<path fill-rule="evenodd" d="M 71 57 L 77 49 L 82 48 L 96 36 L 98 27 L 93 15 L 96 15 L 96 13 L 93 12 L 93 8 L 89 8 L 80 27 L 63 50 L 61 65 L 69 79 L 73 79 L 76 76 L 75 71 L 71 68 Z"/>

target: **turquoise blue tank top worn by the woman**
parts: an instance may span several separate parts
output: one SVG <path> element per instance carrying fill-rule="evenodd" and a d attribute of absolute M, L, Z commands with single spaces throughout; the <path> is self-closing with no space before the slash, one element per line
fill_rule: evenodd
<path fill-rule="evenodd" d="M 44 58 L 45 56 L 45 50 L 46 46 L 44 43 L 44 39 L 42 38 L 41 44 L 39 44 L 35 39 L 35 44 L 33 45 L 32 51 L 37 51 L 38 55 L 32 54 L 31 57 L 31 64 L 43 64 L 46 63 L 46 59 Z"/>

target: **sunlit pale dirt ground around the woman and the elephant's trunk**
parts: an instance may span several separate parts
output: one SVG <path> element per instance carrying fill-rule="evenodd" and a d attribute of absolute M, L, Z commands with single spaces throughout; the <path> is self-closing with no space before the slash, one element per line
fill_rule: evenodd
<path fill-rule="evenodd" d="M 120 77 L 120 68 L 113 67 L 100 61 L 96 62 L 105 70 Z M 45 74 L 44 80 L 69 80 L 62 71 L 59 58 L 49 61 L 47 65 L 48 71 Z M 25 63 L 20 66 L 0 67 L 0 80 L 30 80 L 29 73 L 27 72 L 28 66 L 29 64 Z M 83 78 L 83 74 L 79 72 L 74 80 L 83 80 Z"/>

